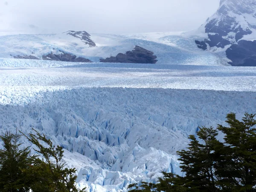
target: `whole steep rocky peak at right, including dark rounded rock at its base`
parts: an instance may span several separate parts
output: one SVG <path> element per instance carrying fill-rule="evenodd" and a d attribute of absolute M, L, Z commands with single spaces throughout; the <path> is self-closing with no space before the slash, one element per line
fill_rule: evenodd
<path fill-rule="evenodd" d="M 235 66 L 255 66 L 251 41 L 256 40 L 256 0 L 221 0 L 217 12 L 196 33 L 205 34 L 204 41 L 195 41 L 199 48 L 226 51 Z"/>

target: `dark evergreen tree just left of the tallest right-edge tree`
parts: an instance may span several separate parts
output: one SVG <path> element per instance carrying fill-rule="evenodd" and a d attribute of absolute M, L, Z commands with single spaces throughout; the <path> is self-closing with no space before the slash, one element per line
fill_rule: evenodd
<path fill-rule="evenodd" d="M 217 192 L 219 178 L 215 171 L 218 166 L 218 151 L 223 144 L 216 139 L 218 131 L 212 127 L 200 128 L 197 135 L 202 143 L 194 135 L 190 135 L 191 142 L 187 150 L 177 152 L 182 161 L 180 168 L 186 172 L 186 187 L 191 192 Z"/>

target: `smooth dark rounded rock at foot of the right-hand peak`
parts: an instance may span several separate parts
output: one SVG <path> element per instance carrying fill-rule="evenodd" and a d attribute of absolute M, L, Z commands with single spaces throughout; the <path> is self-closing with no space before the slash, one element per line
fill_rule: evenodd
<path fill-rule="evenodd" d="M 256 66 L 256 41 L 241 40 L 226 51 L 233 66 Z"/>

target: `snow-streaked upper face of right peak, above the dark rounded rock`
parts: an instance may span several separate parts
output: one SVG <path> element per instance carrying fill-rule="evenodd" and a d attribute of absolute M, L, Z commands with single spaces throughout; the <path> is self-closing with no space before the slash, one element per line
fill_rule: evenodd
<path fill-rule="evenodd" d="M 256 38 L 256 0 L 221 0 L 217 12 L 201 28 L 208 35 L 204 43 L 209 47 L 225 48 L 246 35 Z"/>

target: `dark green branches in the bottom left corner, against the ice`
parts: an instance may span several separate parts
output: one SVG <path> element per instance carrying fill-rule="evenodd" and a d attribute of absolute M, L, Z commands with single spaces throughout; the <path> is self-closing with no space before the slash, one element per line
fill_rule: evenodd
<path fill-rule="evenodd" d="M 0 136 L 0 192 L 85 192 L 76 187 L 76 169 L 66 167 L 60 146 L 38 132 L 29 134 L 25 137 L 41 154 L 30 156 L 29 147 L 20 149 L 20 137 L 10 132 Z"/>

